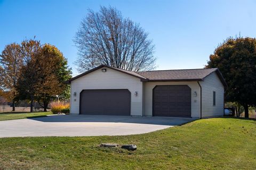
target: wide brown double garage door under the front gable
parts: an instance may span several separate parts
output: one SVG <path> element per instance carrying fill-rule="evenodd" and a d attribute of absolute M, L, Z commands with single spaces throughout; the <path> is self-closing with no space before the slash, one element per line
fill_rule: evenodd
<path fill-rule="evenodd" d="M 80 114 L 130 116 L 131 92 L 127 89 L 83 90 Z"/>

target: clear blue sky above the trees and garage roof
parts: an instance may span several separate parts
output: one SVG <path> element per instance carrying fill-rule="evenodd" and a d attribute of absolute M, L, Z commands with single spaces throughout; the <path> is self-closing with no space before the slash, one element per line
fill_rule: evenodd
<path fill-rule="evenodd" d="M 57 46 L 77 74 L 73 38 L 87 9 L 114 6 L 155 44 L 157 70 L 202 68 L 227 37 L 256 37 L 256 1 L 0 0 L 0 51 L 34 38 Z"/>

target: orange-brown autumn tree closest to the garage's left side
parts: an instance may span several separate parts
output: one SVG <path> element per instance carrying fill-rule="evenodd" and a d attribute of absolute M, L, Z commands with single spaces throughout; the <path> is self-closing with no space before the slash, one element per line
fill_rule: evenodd
<path fill-rule="evenodd" d="M 37 70 L 38 81 L 36 85 L 36 99 L 46 112 L 50 99 L 55 95 L 65 97 L 65 92 L 69 90 L 65 81 L 71 78 L 71 70 L 67 66 L 67 59 L 58 48 L 50 44 L 42 47 L 38 60 Z"/>

